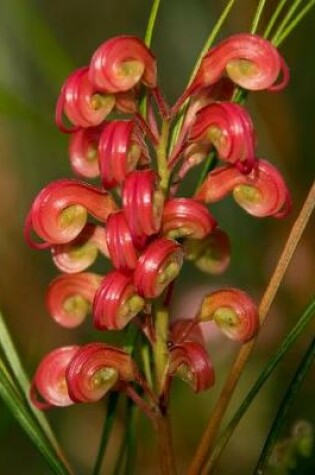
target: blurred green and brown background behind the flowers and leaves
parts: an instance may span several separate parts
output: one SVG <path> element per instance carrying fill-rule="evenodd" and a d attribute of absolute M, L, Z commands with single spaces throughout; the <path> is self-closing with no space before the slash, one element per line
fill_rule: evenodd
<path fill-rule="evenodd" d="M 73 68 L 86 64 L 101 42 L 122 33 L 143 37 L 150 3 L 149 0 L 0 2 L 0 306 L 29 374 L 40 358 L 57 346 L 103 338 L 92 332 L 90 322 L 78 330 L 67 331 L 49 318 L 44 294 L 57 272 L 49 252 L 28 249 L 22 235 L 34 196 L 46 183 L 71 176 L 68 139 L 59 133 L 53 120 L 56 97 L 65 76 Z M 266 17 L 277 3 L 268 3 Z M 160 83 L 170 102 L 183 90 L 195 58 L 224 4 L 211 0 L 162 0 L 153 50 L 158 58 Z M 248 31 L 256 5 L 257 1 L 239 0 L 222 36 Z M 215 278 L 187 265 L 177 287 L 174 316 L 193 316 L 203 293 L 221 285 L 243 288 L 259 301 L 314 176 L 315 55 L 311 49 L 314 41 L 315 10 L 281 48 L 292 75 L 287 90 L 280 94 L 259 93 L 249 101 L 257 127 L 259 156 L 271 160 L 282 171 L 292 190 L 292 214 L 283 221 L 255 220 L 232 200 L 214 206 L 215 216 L 231 238 L 231 265 L 224 276 Z M 261 332 L 232 408 L 242 399 L 314 292 L 312 224 Z M 104 271 L 102 261 L 98 268 Z M 184 299 L 179 299 L 180 294 Z M 251 473 L 285 388 L 313 333 L 314 326 L 299 339 L 264 387 L 216 473 Z M 237 349 L 237 345 L 223 337 L 210 338 L 209 352 L 217 383 L 207 394 L 195 396 L 184 384 L 175 385 L 172 419 L 179 474 L 185 473 Z M 315 422 L 313 381 L 314 371 L 289 414 L 284 436 L 296 420 Z M 100 403 L 53 410 L 49 414 L 78 475 L 90 473 L 103 413 L 104 405 Z M 105 475 L 111 473 L 111 454 L 117 451 L 122 425 L 123 419 L 117 422 L 111 453 L 102 472 Z M 156 474 L 154 436 L 142 419 L 138 434 L 135 473 Z M 49 473 L 1 401 L 0 440 L 1 474 Z M 314 461 L 303 467 L 295 473 L 315 473 Z"/>

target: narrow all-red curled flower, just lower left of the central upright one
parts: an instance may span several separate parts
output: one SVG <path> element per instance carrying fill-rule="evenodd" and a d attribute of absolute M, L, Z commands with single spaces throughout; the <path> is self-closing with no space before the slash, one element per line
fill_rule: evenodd
<path fill-rule="evenodd" d="M 135 269 L 138 256 L 123 211 L 109 216 L 106 226 L 106 241 L 110 259 L 116 269 Z"/>

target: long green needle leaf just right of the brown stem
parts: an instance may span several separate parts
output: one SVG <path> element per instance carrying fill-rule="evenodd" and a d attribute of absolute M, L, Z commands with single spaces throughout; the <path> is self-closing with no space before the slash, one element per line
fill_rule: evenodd
<path fill-rule="evenodd" d="M 306 326 L 312 321 L 315 314 L 315 299 L 311 301 L 311 303 L 307 306 L 304 310 L 302 316 L 296 323 L 296 325 L 292 328 L 289 334 L 286 336 L 285 340 L 281 343 L 280 347 L 276 351 L 276 353 L 270 358 L 268 364 L 261 372 L 259 378 L 257 378 L 256 382 L 251 387 L 250 391 L 244 398 L 242 404 L 235 412 L 234 416 L 231 418 L 230 422 L 228 423 L 224 432 L 220 435 L 217 443 L 215 444 L 212 456 L 209 460 L 209 464 L 207 465 L 207 473 L 211 473 L 216 466 L 216 463 L 226 447 L 226 444 L 232 437 L 235 429 L 237 428 L 240 420 L 249 409 L 251 403 L 261 390 L 262 386 L 265 384 L 269 376 L 273 373 L 275 368 L 278 366 L 280 361 L 283 357 L 287 354 L 293 344 L 296 342 L 298 337 L 301 333 L 305 330 Z"/>

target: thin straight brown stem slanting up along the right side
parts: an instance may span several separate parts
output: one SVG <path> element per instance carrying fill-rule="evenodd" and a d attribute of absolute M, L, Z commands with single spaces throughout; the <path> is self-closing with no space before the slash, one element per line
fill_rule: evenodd
<path fill-rule="evenodd" d="M 259 305 L 259 315 L 261 323 L 263 323 L 268 315 L 270 306 L 277 294 L 279 286 L 283 280 L 285 272 L 292 260 L 294 251 L 301 239 L 303 231 L 310 219 L 315 208 L 315 181 L 310 192 L 302 206 L 302 209 L 293 224 L 289 237 L 285 243 L 282 254 L 278 260 L 274 273 L 270 279 L 267 289 L 261 299 Z M 254 348 L 256 339 L 242 346 L 236 356 L 234 364 L 228 374 L 221 395 L 210 417 L 206 430 L 202 436 L 201 442 L 197 448 L 196 454 L 189 468 L 188 475 L 199 475 L 202 473 L 207 457 L 212 449 L 215 438 L 217 436 L 220 424 L 225 415 L 226 409 L 233 396 L 237 383 L 243 372 L 243 369 Z"/>

